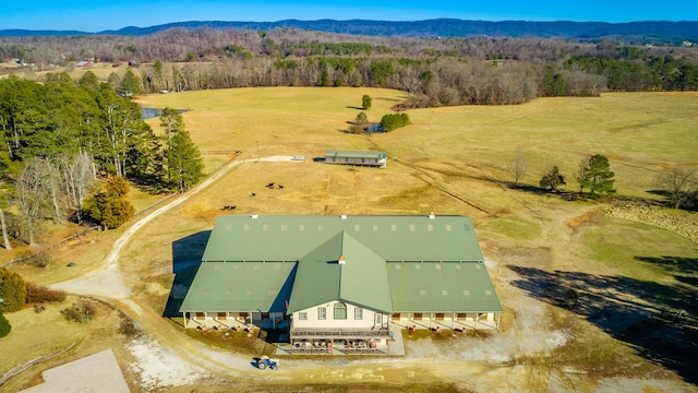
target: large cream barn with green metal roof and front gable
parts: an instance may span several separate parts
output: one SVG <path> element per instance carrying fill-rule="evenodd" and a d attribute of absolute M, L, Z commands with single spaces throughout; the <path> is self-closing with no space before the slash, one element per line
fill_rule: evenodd
<path fill-rule="evenodd" d="M 433 214 L 219 217 L 180 307 L 189 327 L 288 329 L 298 350 L 496 329 L 502 311 L 471 219 Z"/>

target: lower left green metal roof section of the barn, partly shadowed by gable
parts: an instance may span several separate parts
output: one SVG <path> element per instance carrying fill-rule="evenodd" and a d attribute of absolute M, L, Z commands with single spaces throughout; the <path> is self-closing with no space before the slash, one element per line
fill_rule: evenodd
<path fill-rule="evenodd" d="M 296 262 L 204 262 L 180 312 L 286 312 L 294 275 Z"/>

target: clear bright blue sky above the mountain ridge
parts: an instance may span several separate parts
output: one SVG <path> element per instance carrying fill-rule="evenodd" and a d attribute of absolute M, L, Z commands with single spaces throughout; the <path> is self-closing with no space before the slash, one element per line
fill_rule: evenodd
<path fill-rule="evenodd" d="M 183 21 L 286 19 L 420 21 L 435 17 L 526 21 L 697 21 L 696 0 L 67 0 L 3 1 L 0 29 L 99 32 Z"/>

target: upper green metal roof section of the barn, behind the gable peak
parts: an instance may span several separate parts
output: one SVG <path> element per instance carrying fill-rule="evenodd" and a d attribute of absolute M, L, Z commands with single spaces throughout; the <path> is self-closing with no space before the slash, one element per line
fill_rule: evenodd
<path fill-rule="evenodd" d="M 387 261 L 482 261 L 469 217 L 417 215 L 222 216 L 202 260 L 299 261 L 341 231 Z"/>

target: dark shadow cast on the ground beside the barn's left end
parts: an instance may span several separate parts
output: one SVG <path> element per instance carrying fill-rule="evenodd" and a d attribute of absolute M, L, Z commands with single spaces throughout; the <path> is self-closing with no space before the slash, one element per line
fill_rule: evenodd
<path fill-rule="evenodd" d="M 167 298 L 163 317 L 180 315 L 179 308 L 182 306 L 184 296 L 186 296 L 186 291 L 194 281 L 209 237 L 210 230 L 202 230 L 172 242 L 172 273 L 174 273 L 174 281 L 172 282 L 172 288 Z"/>

